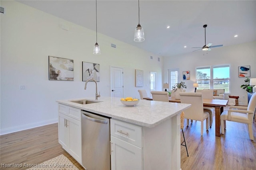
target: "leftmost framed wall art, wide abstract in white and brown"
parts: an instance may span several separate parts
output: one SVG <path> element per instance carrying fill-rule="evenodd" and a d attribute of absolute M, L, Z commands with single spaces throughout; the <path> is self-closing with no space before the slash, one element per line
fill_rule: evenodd
<path fill-rule="evenodd" d="M 74 81 L 74 61 L 60 57 L 49 57 L 49 80 Z"/>

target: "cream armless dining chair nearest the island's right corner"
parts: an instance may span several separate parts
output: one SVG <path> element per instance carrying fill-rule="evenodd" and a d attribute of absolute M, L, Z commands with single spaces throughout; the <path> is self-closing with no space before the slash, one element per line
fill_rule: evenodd
<path fill-rule="evenodd" d="M 204 120 L 206 119 L 206 130 L 209 129 L 209 113 L 204 111 L 202 93 L 199 92 L 184 92 L 180 93 L 180 103 L 191 104 L 184 111 L 184 118 L 201 121 L 201 136 L 203 135 Z"/>

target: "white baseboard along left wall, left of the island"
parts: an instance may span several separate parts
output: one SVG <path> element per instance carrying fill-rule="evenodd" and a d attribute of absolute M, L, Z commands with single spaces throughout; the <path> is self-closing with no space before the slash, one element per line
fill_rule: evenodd
<path fill-rule="evenodd" d="M 14 132 L 18 132 L 18 131 L 23 131 L 26 129 L 31 129 L 34 127 L 40 127 L 40 126 L 44 126 L 44 125 L 49 125 L 52 123 L 57 123 L 58 119 L 51 119 L 51 120 L 47 120 L 47 121 L 40 121 L 40 122 L 36 122 L 36 123 L 30 123 L 30 124 L 26 124 L 26 125 L 21 125 L 21 126 L 16 126 L 16 127 L 9 127 L 6 129 L 0 129 L 0 135 L 5 135 L 8 133 L 14 133 Z"/>

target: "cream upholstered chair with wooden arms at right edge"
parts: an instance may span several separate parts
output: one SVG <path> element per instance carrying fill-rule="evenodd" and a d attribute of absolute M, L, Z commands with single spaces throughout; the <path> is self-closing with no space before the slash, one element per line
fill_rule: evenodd
<path fill-rule="evenodd" d="M 256 93 L 254 93 L 248 103 L 248 107 L 230 106 L 228 111 L 223 111 L 220 115 L 221 134 L 226 129 L 226 120 L 245 123 L 248 125 L 250 139 L 253 141 L 252 122 L 256 109 Z"/>

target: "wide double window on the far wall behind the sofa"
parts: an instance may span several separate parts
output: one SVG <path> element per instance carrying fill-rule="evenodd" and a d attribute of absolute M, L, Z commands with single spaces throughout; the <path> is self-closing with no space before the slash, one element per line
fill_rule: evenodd
<path fill-rule="evenodd" d="M 196 68 L 198 89 L 225 89 L 230 93 L 230 65 L 215 65 Z"/>

